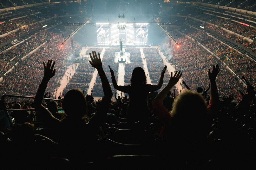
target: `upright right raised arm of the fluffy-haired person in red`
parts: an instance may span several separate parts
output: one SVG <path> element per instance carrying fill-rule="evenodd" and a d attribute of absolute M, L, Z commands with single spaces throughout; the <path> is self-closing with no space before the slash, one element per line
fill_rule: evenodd
<path fill-rule="evenodd" d="M 208 69 L 208 76 L 209 76 L 209 80 L 210 80 L 210 84 L 211 84 L 211 89 L 210 89 L 210 99 L 213 99 L 215 101 L 220 100 L 219 99 L 219 94 L 218 94 L 218 89 L 216 86 L 216 77 L 218 75 L 218 73 L 220 72 L 220 67 L 217 64 L 216 67 L 213 64 L 213 70 L 211 73 L 211 69 Z"/>

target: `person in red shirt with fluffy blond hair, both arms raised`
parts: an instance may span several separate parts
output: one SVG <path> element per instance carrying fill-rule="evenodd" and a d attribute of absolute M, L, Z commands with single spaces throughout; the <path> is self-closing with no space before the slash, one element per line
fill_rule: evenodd
<path fill-rule="evenodd" d="M 203 96 L 191 90 L 185 90 L 178 95 L 173 103 L 171 112 L 163 106 L 163 100 L 171 88 L 179 81 L 182 73 L 171 73 L 167 86 L 153 100 L 153 113 L 162 121 L 163 126 L 160 138 L 174 139 L 177 142 L 189 141 L 193 138 L 200 141 L 207 137 L 209 133 L 209 118 L 218 109 L 219 94 L 216 86 L 216 76 L 220 68 L 217 64 L 213 65 L 211 73 L 208 70 L 210 80 L 210 103 L 207 106 Z M 193 133 L 187 133 L 187 130 L 193 129 Z M 183 135 L 181 135 L 183 134 Z M 185 135 L 186 134 L 186 135 Z"/>

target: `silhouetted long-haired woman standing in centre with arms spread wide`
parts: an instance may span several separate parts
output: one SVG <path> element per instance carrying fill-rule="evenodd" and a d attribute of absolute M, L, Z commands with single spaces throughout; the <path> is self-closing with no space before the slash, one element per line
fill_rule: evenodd
<path fill-rule="evenodd" d="M 135 123 L 143 121 L 149 115 L 147 106 L 147 97 L 149 92 L 156 91 L 162 87 L 164 73 L 167 68 L 165 65 L 158 85 L 147 84 L 144 70 L 141 67 L 135 67 L 132 72 L 131 82 L 128 86 L 118 86 L 115 80 L 114 70 L 110 66 L 112 83 L 115 89 L 129 94 L 129 105 L 126 111 L 127 123 Z"/>

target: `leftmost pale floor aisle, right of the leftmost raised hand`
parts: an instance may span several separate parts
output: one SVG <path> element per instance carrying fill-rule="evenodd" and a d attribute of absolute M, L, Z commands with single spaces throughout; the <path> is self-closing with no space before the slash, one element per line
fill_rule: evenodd
<path fill-rule="evenodd" d="M 58 98 L 60 96 L 60 94 L 61 94 L 61 97 L 63 97 L 62 96 L 63 90 L 68 85 L 69 80 L 71 79 L 71 77 L 75 74 L 75 70 L 76 70 L 77 66 L 78 66 L 77 63 L 71 64 L 68 67 L 68 69 L 66 70 L 65 76 L 63 76 L 62 79 L 61 79 L 61 82 L 60 82 L 61 85 L 60 85 L 60 87 L 57 88 L 57 90 L 54 94 L 54 96 L 56 96 L 56 98 Z M 71 76 L 69 75 L 69 73 L 71 74 Z"/>

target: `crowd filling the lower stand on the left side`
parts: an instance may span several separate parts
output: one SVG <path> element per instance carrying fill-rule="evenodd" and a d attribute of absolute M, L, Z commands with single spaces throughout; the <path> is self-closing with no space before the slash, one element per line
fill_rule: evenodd
<path fill-rule="evenodd" d="M 50 94 L 54 94 L 55 89 L 59 87 L 60 80 L 64 76 L 67 58 L 70 53 L 75 53 L 80 50 L 81 45 L 74 42 L 74 48 L 71 47 L 70 42 L 65 46 L 59 48 L 59 44 L 63 41 L 63 38 L 57 37 L 45 45 L 40 47 L 38 51 L 29 55 L 23 62 L 19 62 L 16 68 L 7 73 L 3 82 L 0 83 L 0 90 L 3 94 L 16 94 L 16 95 L 28 95 L 34 96 L 36 94 L 34 86 L 38 86 L 40 77 L 42 77 L 43 66 L 42 63 L 45 58 L 52 58 L 58 63 L 56 64 L 56 76 L 48 84 L 48 91 Z M 33 45 L 28 45 L 33 46 Z M 31 75 L 31 73 L 33 73 Z"/>

